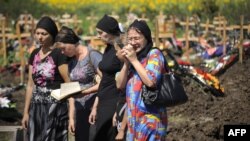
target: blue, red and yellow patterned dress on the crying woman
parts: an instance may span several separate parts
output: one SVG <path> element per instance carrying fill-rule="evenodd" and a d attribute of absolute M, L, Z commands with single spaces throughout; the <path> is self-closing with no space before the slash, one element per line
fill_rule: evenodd
<path fill-rule="evenodd" d="M 158 49 L 150 50 L 141 63 L 148 77 L 157 82 L 165 72 L 164 56 Z M 166 136 L 167 114 L 165 108 L 147 106 L 141 99 L 142 81 L 134 69 L 130 69 L 126 86 L 128 104 L 127 141 L 163 141 Z"/>

